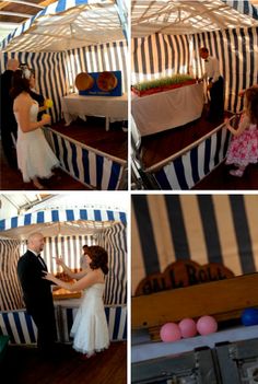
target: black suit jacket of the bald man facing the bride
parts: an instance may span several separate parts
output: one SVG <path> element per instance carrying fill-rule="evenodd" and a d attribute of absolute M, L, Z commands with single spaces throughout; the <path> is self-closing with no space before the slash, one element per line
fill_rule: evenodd
<path fill-rule="evenodd" d="M 52 309 L 51 282 L 43 279 L 42 263 L 31 251 L 27 251 L 17 261 L 17 276 L 23 289 L 23 299 L 28 313 L 37 309 Z"/>

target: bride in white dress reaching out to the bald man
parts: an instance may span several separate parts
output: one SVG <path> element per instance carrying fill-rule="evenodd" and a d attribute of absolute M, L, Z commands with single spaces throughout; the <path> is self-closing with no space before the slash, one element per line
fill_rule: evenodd
<path fill-rule="evenodd" d="M 98 245 L 90 246 L 86 251 L 86 261 L 87 272 L 82 271 L 81 274 L 84 276 L 74 283 L 64 282 L 47 272 L 44 277 L 69 291 L 84 290 L 81 306 L 72 325 L 71 336 L 74 338 L 73 348 L 83 353 L 85 359 L 109 347 L 109 334 L 103 303 L 104 278 L 108 272 L 107 253 Z M 66 270 L 66 268 L 63 269 Z"/>

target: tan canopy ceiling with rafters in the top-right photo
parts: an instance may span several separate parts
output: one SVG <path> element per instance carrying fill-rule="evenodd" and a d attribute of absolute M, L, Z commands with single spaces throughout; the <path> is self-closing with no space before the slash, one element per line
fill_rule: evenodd
<path fill-rule="evenodd" d="M 257 26 L 221 0 L 131 0 L 131 35 L 195 34 L 233 27 Z"/>

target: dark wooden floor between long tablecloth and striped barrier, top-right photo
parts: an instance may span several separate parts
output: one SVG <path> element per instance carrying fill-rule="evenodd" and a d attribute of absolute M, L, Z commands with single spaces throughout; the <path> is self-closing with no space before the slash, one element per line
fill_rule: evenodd
<path fill-rule="evenodd" d="M 141 160 L 144 167 L 148 168 L 169 158 L 223 123 L 223 119 L 219 123 L 207 121 L 207 107 L 204 106 L 201 117 L 195 121 L 160 133 L 142 137 Z M 225 113 L 225 116 L 231 116 L 231 114 Z"/>

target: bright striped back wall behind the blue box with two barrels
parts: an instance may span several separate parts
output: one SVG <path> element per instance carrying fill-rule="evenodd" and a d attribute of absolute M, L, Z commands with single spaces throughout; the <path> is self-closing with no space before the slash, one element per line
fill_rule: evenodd
<path fill-rule="evenodd" d="M 121 71 L 122 90 L 127 92 L 127 42 L 114 42 L 67 51 L 67 74 L 70 90 L 80 72 Z"/>

